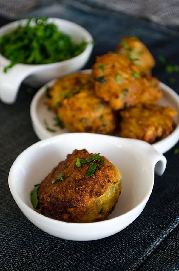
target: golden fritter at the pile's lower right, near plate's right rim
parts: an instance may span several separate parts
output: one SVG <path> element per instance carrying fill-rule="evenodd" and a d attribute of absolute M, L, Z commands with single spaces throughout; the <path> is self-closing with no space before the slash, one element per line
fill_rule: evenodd
<path fill-rule="evenodd" d="M 169 135 L 174 127 L 175 109 L 158 105 L 137 105 L 119 112 L 119 135 L 153 143 Z"/>

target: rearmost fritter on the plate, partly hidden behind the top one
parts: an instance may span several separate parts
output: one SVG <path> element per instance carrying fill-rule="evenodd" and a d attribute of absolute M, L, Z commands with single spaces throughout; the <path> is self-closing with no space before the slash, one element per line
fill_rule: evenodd
<path fill-rule="evenodd" d="M 124 37 L 119 42 L 116 51 L 135 61 L 141 71 L 151 74 L 155 60 L 147 47 L 135 37 Z"/>

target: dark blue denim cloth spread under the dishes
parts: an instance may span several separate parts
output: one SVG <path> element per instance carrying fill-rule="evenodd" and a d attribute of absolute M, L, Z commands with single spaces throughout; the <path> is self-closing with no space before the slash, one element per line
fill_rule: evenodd
<path fill-rule="evenodd" d="M 24 17 L 27 15 L 30 13 Z M 58 16 L 87 28 L 97 44 L 86 68 L 91 67 L 96 55 L 113 50 L 126 35 L 142 36 L 156 60 L 162 54 L 179 64 L 179 33 L 155 23 L 97 8 L 84 11 L 70 1 L 61 10 L 42 9 L 31 15 Z M 168 85 L 170 77 L 178 79 L 177 73 L 166 74 L 158 63 L 153 75 Z M 179 81 L 170 86 L 179 93 Z M 0 270 L 179 270 L 179 153 L 174 154 L 179 144 L 165 153 L 166 171 L 163 176 L 155 176 L 151 197 L 141 215 L 115 235 L 87 242 L 62 240 L 26 219 L 10 194 L 7 179 L 18 154 L 38 141 L 29 113 L 33 95 L 22 85 L 15 104 L 0 103 Z"/>

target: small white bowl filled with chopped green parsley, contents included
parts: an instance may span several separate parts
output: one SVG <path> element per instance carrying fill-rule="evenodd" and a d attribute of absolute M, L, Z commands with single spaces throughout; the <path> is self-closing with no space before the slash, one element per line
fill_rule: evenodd
<path fill-rule="evenodd" d="M 22 81 L 39 87 L 87 63 L 93 38 L 82 26 L 59 18 L 33 18 L 0 28 L 0 99 L 16 101 Z"/>

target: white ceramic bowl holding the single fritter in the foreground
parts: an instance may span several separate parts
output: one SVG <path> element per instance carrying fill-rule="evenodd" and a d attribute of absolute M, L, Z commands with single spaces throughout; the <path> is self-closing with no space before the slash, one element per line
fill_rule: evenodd
<path fill-rule="evenodd" d="M 123 174 L 122 191 L 109 220 L 94 223 L 67 223 L 37 213 L 30 192 L 58 162 L 74 149 L 99 153 Z M 113 235 L 134 221 L 145 207 L 154 184 L 154 169 L 162 175 L 166 158 L 150 144 L 109 135 L 67 133 L 33 144 L 21 153 L 9 173 L 9 187 L 24 215 L 38 228 L 68 240 L 96 240 Z"/>

